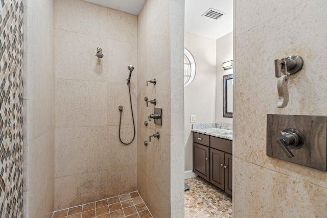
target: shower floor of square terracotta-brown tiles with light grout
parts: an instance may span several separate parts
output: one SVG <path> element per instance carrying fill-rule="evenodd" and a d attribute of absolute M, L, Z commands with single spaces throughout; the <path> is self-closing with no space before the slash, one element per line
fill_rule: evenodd
<path fill-rule="evenodd" d="M 53 218 L 151 218 L 152 215 L 137 191 L 64 210 Z"/>

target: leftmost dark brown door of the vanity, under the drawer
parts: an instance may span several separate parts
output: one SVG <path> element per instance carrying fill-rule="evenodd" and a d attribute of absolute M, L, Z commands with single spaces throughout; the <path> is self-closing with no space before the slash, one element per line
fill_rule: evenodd
<path fill-rule="evenodd" d="M 209 147 L 193 142 L 194 173 L 209 181 Z"/>

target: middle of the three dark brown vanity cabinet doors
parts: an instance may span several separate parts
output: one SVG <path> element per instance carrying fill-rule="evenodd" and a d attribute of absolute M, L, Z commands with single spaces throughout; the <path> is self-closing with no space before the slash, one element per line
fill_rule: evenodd
<path fill-rule="evenodd" d="M 225 189 L 225 152 L 210 149 L 210 182 L 222 190 Z"/>

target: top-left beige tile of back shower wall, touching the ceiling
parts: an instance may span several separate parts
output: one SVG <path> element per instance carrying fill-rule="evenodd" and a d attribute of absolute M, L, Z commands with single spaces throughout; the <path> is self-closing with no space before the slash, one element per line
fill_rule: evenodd
<path fill-rule="evenodd" d="M 107 8 L 81 0 L 55 0 L 55 28 L 106 37 Z"/>

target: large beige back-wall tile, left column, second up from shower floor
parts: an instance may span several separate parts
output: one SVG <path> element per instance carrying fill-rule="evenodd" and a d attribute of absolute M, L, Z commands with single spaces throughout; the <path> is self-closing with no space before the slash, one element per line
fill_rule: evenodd
<path fill-rule="evenodd" d="M 55 130 L 55 177 L 107 169 L 107 127 Z"/>

